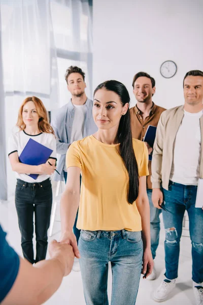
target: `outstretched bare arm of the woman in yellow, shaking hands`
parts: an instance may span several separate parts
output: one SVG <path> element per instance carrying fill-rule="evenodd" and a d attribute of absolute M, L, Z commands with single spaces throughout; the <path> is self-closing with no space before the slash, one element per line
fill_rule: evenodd
<path fill-rule="evenodd" d="M 80 202 L 80 171 L 77 166 L 67 168 L 65 190 L 60 201 L 61 237 L 60 242 L 69 243 L 75 256 L 80 258 L 73 226 Z"/>

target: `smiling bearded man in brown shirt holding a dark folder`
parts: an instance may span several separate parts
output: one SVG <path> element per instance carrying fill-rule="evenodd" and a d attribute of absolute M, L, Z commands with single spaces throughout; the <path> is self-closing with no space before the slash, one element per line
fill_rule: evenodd
<path fill-rule="evenodd" d="M 149 125 L 157 126 L 161 113 L 165 110 L 157 106 L 152 101 L 155 93 L 155 80 L 145 72 L 139 72 L 133 77 L 133 94 L 136 97 L 137 105 L 130 109 L 130 120 L 132 137 L 143 140 Z M 145 142 L 149 155 L 152 154 L 153 147 Z M 147 177 L 147 195 L 150 203 L 150 231 L 151 231 L 151 251 L 153 259 L 156 256 L 156 249 L 159 243 L 160 232 L 160 212 L 161 209 L 154 207 L 152 203 L 152 184 L 151 184 L 151 161 L 148 163 L 149 176 Z M 156 279 L 156 270 L 148 277 L 148 280 Z"/>

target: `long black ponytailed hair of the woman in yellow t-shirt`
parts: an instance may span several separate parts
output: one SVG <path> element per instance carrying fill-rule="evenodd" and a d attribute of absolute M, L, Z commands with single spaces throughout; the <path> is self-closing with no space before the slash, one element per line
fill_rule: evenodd
<path fill-rule="evenodd" d="M 129 93 L 121 82 L 117 80 L 107 80 L 99 84 L 94 90 L 94 95 L 97 90 L 105 88 L 108 91 L 115 92 L 124 106 L 126 103 L 129 104 L 130 97 Z M 134 150 L 132 146 L 132 133 L 130 127 L 130 111 L 129 108 L 125 115 L 121 116 L 117 140 L 119 145 L 119 154 L 123 159 L 125 167 L 129 175 L 129 187 L 128 187 L 128 202 L 133 203 L 139 194 L 139 174 L 138 174 L 138 164 L 136 156 L 134 156 Z"/>

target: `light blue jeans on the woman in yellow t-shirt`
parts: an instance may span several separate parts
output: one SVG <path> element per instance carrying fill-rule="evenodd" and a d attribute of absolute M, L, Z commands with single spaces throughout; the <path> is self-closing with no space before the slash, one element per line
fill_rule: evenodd
<path fill-rule="evenodd" d="M 111 305 L 134 305 L 140 283 L 141 232 L 84 231 L 79 239 L 80 268 L 87 305 L 108 305 L 108 263 L 112 266 Z"/>

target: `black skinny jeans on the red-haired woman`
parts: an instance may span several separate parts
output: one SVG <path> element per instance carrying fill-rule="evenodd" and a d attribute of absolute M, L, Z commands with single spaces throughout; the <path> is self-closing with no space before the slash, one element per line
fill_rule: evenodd
<path fill-rule="evenodd" d="M 50 179 L 40 183 L 28 183 L 18 179 L 15 192 L 15 205 L 21 232 L 21 247 L 24 258 L 31 264 L 46 258 L 52 206 Z M 33 257 L 33 213 L 35 213 L 35 233 L 37 241 L 36 259 Z"/>

